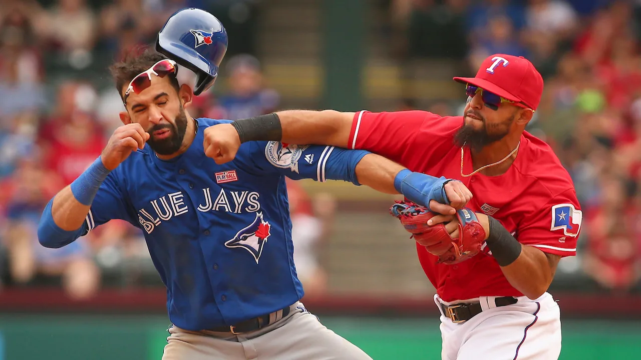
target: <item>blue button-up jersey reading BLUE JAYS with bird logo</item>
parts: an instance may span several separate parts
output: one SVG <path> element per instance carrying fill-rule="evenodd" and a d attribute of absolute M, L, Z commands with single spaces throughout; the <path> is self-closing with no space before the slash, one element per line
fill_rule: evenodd
<path fill-rule="evenodd" d="M 133 152 L 100 187 L 85 227 L 119 218 L 144 232 L 167 286 L 167 310 L 188 330 L 233 325 L 294 304 L 296 277 L 285 176 L 338 179 L 336 166 L 367 152 L 280 142 L 248 142 L 217 165 L 203 151 L 197 119 L 187 152 L 159 160 L 148 145 Z"/>

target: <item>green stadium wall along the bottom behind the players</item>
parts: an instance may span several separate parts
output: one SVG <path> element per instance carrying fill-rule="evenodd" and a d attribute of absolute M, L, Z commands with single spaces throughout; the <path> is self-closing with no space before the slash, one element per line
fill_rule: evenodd
<path fill-rule="evenodd" d="M 374 360 L 440 359 L 435 318 L 320 320 Z M 167 325 L 158 315 L 0 315 L 0 360 L 158 360 Z M 637 359 L 640 339 L 640 322 L 565 320 L 560 359 Z"/>

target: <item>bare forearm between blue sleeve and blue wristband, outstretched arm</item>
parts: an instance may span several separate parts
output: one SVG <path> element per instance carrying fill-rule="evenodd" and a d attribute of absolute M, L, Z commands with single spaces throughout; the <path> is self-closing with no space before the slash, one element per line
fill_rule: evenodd
<path fill-rule="evenodd" d="M 394 179 L 404 167 L 383 156 L 367 154 L 356 165 L 356 177 L 360 184 L 383 193 L 397 194 Z"/>

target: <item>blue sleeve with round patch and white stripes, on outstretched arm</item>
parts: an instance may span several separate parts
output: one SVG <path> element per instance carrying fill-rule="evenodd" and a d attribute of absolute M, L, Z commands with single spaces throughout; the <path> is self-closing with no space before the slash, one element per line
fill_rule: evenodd
<path fill-rule="evenodd" d="M 295 145 L 281 142 L 254 142 L 256 167 L 278 172 L 290 179 L 315 181 L 344 180 L 360 185 L 356 164 L 369 154 L 324 145 Z"/>

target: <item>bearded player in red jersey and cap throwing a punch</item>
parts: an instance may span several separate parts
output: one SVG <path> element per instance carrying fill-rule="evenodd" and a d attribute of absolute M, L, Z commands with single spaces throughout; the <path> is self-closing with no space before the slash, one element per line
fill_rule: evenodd
<path fill-rule="evenodd" d="M 560 258 L 576 254 L 582 213 L 554 152 L 524 131 L 543 79 L 525 58 L 495 54 L 475 78 L 454 80 L 469 96 L 462 117 L 290 110 L 221 125 L 210 144 L 219 149 L 217 162 L 229 161 L 247 140 L 365 149 L 413 171 L 462 181 L 474 195 L 467 207 L 482 227 L 474 233 L 482 236 L 478 254 L 448 264 L 417 240 L 420 263 L 437 290 L 442 359 L 557 359 L 560 313 L 547 289 Z M 272 129 L 281 131 L 279 138 L 263 139 Z M 445 224 L 465 247 L 460 233 L 470 232 L 459 230 L 459 218 L 436 215 L 428 225 Z"/>

